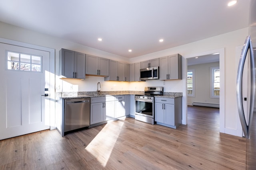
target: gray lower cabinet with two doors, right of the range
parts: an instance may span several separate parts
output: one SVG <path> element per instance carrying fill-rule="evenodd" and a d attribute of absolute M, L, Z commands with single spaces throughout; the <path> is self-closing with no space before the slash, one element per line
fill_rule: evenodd
<path fill-rule="evenodd" d="M 182 124 L 182 98 L 155 98 L 155 121 L 176 129 Z"/>

